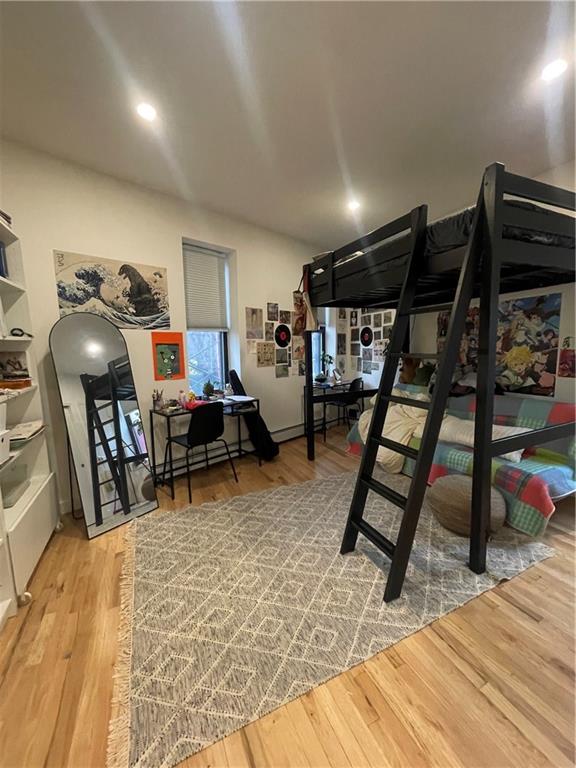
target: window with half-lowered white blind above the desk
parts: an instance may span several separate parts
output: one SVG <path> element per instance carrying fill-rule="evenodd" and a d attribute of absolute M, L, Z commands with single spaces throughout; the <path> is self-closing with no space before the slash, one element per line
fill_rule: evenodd
<path fill-rule="evenodd" d="M 183 255 L 188 386 L 201 394 L 228 380 L 228 254 L 184 242 Z"/>

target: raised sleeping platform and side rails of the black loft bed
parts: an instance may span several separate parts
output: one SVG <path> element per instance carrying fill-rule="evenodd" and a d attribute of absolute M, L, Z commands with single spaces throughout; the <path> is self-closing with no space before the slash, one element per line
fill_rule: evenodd
<path fill-rule="evenodd" d="M 550 204 L 558 192 L 541 182 L 506 173 L 510 194 Z M 562 196 L 562 195 L 561 195 Z M 547 199 L 546 199 L 547 198 Z M 425 206 L 421 206 L 424 209 Z M 415 232 L 411 214 L 370 232 L 304 267 L 304 285 L 315 307 L 394 308 L 406 273 L 414 237 L 422 232 L 421 257 L 426 272 L 417 286 L 422 305 L 443 303 L 456 288 L 472 231 L 475 208 L 427 224 Z M 525 200 L 502 205 L 502 265 L 500 293 L 570 283 L 574 280 L 574 219 Z M 399 229 L 401 227 L 401 229 Z M 479 278 L 479 276 L 478 276 Z M 474 296 L 480 293 L 476 281 Z"/>

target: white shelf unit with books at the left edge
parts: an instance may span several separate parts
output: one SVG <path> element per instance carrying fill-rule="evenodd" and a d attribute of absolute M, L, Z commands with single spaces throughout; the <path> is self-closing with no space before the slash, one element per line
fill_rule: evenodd
<path fill-rule="evenodd" d="M 15 232 L 0 222 L 0 241 L 6 248 L 9 277 L 0 277 L 0 361 L 19 357 L 25 362 L 32 386 L 0 392 L 6 408 L 6 427 L 27 421 L 45 424 L 34 360 L 34 340 L 7 336 L 12 328 L 30 333 L 31 315 L 24 281 L 21 244 Z M 0 629 L 17 604 L 30 599 L 28 582 L 58 527 L 56 482 L 50 467 L 46 426 L 10 451 L 0 465 Z M 8 490 L 20 483 L 23 492 L 13 506 L 4 505 Z"/>

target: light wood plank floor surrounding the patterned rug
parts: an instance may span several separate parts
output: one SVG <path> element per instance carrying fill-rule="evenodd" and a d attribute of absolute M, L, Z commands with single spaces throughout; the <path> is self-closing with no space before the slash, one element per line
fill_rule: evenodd
<path fill-rule="evenodd" d="M 261 469 L 194 474 L 194 502 L 354 469 L 342 433 L 285 443 Z M 162 497 L 162 507 L 171 502 Z M 185 503 L 181 483 L 177 504 Z M 558 554 L 182 765 L 573 766 L 574 512 L 555 516 Z M 124 531 L 88 542 L 69 521 L 0 636 L 2 768 L 105 765 Z"/>

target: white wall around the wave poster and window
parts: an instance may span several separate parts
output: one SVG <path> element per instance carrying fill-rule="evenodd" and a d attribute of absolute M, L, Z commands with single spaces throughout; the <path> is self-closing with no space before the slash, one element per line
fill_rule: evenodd
<path fill-rule="evenodd" d="M 48 335 L 59 316 L 55 249 L 167 267 L 171 329 L 176 331 L 185 330 L 182 238 L 232 249 L 232 363 L 240 368 L 247 391 L 261 398 L 271 431 L 279 437 L 289 436 L 294 427 L 302 432 L 303 378 L 276 379 L 273 368 L 256 368 L 255 356 L 246 354 L 244 307 L 265 309 L 267 301 L 277 301 L 291 309 L 292 291 L 300 282 L 302 265 L 315 252 L 313 246 L 12 142 L 1 145 L 0 168 L 0 207 L 12 215 L 22 244 L 61 495 L 67 493 L 65 433 L 48 349 Z M 158 385 L 150 332 L 124 335 L 147 425 L 152 389 Z M 176 396 L 183 383 L 163 382 L 165 395 Z"/>

